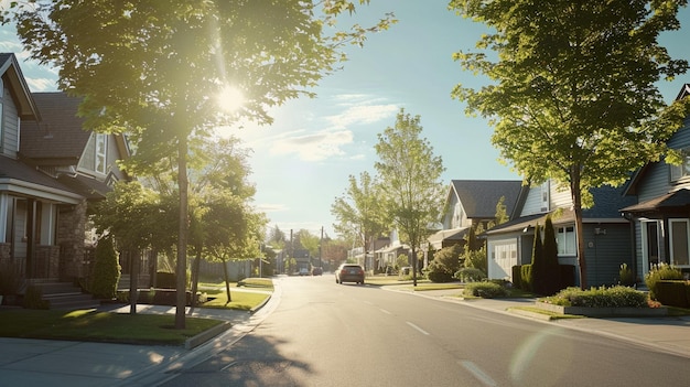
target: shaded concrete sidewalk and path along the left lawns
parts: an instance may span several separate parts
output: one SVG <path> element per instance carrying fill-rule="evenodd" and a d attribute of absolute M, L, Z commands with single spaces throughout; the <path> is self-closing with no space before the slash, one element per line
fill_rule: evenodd
<path fill-rule="evenodd" d="M 110 310 L 129 313 L 129 308 L 125 305 Z M 175 369 L 190 367 L 218 348 L 231 345 L 251 331 L 271 308 L 265 307 L 254 314 L 198 308 L 190 311 L 187 308 L 187 316 L 211 318 L 233 324 L 213 342 L 193 351 L 182 346 L 0 337 L 0 387 L 153 386 L 171 377 Z M 267 310 L 266 313 L 263 310 Z M 175 308 L 140 304 L 137 305 L 137 313 L 175 314 Z"/>

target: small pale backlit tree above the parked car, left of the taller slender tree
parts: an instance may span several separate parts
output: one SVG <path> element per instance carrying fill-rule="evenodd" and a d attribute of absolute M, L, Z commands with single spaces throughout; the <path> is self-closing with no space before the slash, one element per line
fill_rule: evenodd
<path fill-rule="evenodd" d="M 359 183 L 355 176 L 349 175 L 347 191 L 343 196 L 336 197 L 331 205 L 331 214 L 337 221 L 333 225 L 335 232 L 343 237 L 352 236 L 359 243 L 365 254 L 376 238 L 387 230 L 381 216 L 379 190 L 380 185 L 366 171 L 359 174 Z"/>

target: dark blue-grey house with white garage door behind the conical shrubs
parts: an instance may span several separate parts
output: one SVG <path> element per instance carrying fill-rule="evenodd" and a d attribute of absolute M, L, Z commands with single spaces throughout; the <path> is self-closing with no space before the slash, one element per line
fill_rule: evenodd
<path fill-rule="evenodd" d="M 591 191 L 592 208 L 583 208 L 583 234 L 575 233 L 570 190 L 550 181 L 531 186 L 519 207 L 519 217 L 485 233 L 488 278 L 513 281 L 513 267 L 531 262 L 535 226 L 545 225 L 551 215 L 556 227 L 559 262 L 578 270 L 578 238 L 585 244 L 587 283 L 590 286 L 617 282 L 622 264 L 632 265 L 630 225 L 618 209 L 635 202 L 624 196 L 623 189 L 602 186 Z M 579 283 L 579 278 L 575 279 Z"/>

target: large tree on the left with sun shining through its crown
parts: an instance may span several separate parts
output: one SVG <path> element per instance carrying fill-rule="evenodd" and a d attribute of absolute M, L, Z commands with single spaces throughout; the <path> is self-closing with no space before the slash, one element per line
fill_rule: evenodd
<path fill-rule="evenodd" d="M 343 44 L 363 44 L 368 32 L 393 22 L 388 15 L 370 29 L 334 29 L 338 15 L 355 11 L 352 1 L 10 4 L 1 21 L 17 23 L 32 58 L 60 68 L 61 89 L 85 97 L 80 106 L 85 125 L 130 133 L 138 150 L 132 172 L 142 173 L 176 154 L 176 329 L 185 327 L 186 161 L 194 140 L 217 126 L 233 125 L 240 116 L 270 123 L 269 107 L 313 95 L 306 87 L 336 69 L 335 64 L 344 60 Z M 239 94 L 244 104 L 229 100 Z M 222 105 L 234 105 L 236 110 L 226 111 Z"/>

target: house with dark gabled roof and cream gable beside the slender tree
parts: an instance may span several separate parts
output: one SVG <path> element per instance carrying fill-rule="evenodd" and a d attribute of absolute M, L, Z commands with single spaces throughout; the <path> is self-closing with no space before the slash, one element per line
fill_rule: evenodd
<path fill-rule="evenodd" d="M 427 240 L 432 250 L 464 244 L 471 226 L 496 219 L 496 205 L 504 198 L 507 215 L 519 207 L 527 187 L 519 180 L 453 180 L 445 200 L 441 229 Z"/>

